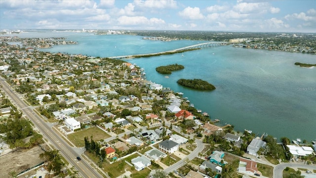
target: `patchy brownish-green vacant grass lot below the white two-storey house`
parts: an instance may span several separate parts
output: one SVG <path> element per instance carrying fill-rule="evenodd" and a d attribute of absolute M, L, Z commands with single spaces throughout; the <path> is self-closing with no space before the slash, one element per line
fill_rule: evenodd
<path fill-rule="evenodd" d="M 97 127 L 91 127 L 82 131 L 75 132 L 74 134 L 67 135 L 68 139 L 72 141 L 77 147 L 84 146 L 84 137 L 87 136 L 89 139 L 91 136 L 94 141 L 100 141 L 111 137 L 109 134 L 103 132 Z"/>

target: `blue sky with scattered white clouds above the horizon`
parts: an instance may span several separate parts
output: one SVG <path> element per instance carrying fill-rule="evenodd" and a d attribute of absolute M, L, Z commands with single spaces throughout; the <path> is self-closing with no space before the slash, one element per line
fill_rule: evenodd
<path fill-rule="evenodd" d="M 0 0 L 0 29 L 316 32 L 316 0 Z"/>

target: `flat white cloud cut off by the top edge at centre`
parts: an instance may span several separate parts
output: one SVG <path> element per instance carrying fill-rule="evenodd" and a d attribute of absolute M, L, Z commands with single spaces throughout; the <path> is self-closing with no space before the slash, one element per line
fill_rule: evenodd
<path fill-rule="evenodd" d="M 134 0 L 134 4 L 141 8 L 177 8 L 174 0 Z"/>

